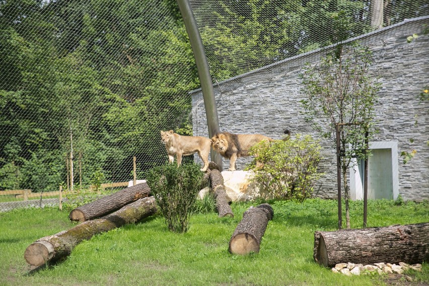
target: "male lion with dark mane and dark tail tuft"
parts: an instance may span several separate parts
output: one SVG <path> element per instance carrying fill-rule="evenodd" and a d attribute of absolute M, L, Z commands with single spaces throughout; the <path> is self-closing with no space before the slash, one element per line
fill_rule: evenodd
<path fill-rule="evenodd" d="M 291 131 L 284 130 L 285 134 L 291 135 Z M 285 137 L 283 140 L 289 138 Z M 262 134 L 232 134 L 229 132 L 216 133 L 211 137 L 211 147 L 223 157 L 230 159 L 229 171 L 235 171 L 235 162 L 238 157 L 249 156 L 250 148 L 261 141 L 272 142 L 275 139 Z"/>

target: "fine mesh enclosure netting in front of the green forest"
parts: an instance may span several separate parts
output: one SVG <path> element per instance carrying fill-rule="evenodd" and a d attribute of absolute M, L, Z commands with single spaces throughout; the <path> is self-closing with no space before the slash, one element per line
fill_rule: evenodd
<path fill-rule="evenodd" d="M 215 84 L 429 15 L 425 0 L 190 3 Z M 23 189 L 132 180 L 134 156 L 142 179 L 167 160 L 160 130 L 192 134 L 199 80 L 175 1 L 2 1 L 0 30 L 0 209 Z"/>

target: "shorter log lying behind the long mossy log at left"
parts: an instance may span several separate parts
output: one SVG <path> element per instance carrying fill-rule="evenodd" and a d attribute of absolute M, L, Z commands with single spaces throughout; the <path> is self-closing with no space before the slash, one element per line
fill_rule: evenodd
<path fill-rule="evenodd" d="M 100 218 L 130 202 L 136 201 L 139 198 L 147 197 L 150 193 L 151 189 L 147 183 L 137 184 L 77 207 L 70 211 L 68 217 L 71 221 L 79 222 Z"/>

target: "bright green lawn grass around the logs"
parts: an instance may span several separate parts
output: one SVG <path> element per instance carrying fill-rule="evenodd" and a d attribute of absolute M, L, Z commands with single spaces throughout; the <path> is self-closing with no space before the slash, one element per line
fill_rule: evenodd
<path fill-rule="evenodd" d="M 228 244 L 251 203 L 233 203 L 235 218 L 194 215 L 186 234 L 168 231 L 152 216 L 94 236 L 67 259 L 30 272 L 24 251 L 35 240 L 71 228 L 68 211 L 21 209 L 0 214 L 0 285 L 383 285 L 386 276 L 346 277 L 313 260 L 314 231 L 335 230 L 336 201 L 270 202 L 269 222 L 258 254 L 234 256 Z M 255 205 L 257 203 L 253 203 Z M 352 228 L 362 226 L 362 202 L 352 202 Z M 427 203 L 370 201 L 369 226 L 429 222 Z M 387 261 L 386 261 L 387 262 Z M 408 271 L 429 280 L 429 266 Z M 398 280 L 405 281 L 404 279 Z"/>

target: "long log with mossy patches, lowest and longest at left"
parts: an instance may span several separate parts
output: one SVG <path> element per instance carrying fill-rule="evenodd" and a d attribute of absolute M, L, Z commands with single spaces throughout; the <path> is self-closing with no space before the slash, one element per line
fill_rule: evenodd
<path fill-rule="evenodd" d="M 156 211 L 154 197 L 141 198 L 101 219 L 86 221 L 67 231 L 37 240 L 27 247 L 24 258 L 32 266 L 56 261 L 68 256 L 83 240 L 125 224 L 138 222 L 154 215 Z"/>

